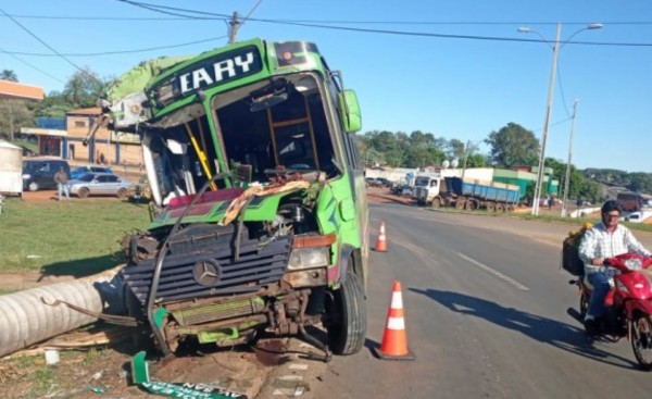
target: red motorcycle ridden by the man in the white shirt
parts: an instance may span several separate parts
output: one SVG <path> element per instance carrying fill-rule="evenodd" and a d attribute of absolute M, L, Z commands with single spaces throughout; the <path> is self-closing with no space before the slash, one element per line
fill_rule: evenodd
<path fill-rule="evenodd" d="M 601 321 L 600 333 L 617 342 L 623 337 L 631 342 L 636 360 L 643 370 L 652 370 L 652 288 L 650 279 L 641 273 L 652 265 L 652 258 L 624 253 L 605 259 L 613 267 L 612 289 L 605 298 L 606 315 Z M 570 280 L 579 287 L 581 320 L 589 308 L 591 287 L 586 277 Z"/>

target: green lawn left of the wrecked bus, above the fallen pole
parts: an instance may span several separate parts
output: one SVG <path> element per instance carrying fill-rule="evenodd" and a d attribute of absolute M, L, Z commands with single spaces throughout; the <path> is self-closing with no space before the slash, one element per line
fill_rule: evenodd
<path fill-rule="evenodd" d="M 122 262 L 121 238 L 148 224 L 147 205 L 116 199 L 10 198 L 0 215 L 0 272 L 93 274 Z"/>

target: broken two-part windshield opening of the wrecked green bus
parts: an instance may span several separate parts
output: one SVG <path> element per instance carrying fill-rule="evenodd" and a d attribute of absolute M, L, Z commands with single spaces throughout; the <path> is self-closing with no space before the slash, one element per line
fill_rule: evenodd
<path fill-rule="evenodd" d="M 210 119 L 193 103 L 150 125 L 143 145 L 158 202 L 197 192 L 216 174 L 224 177 L 212 190 L 265 185 L 284 171 L 340 174 L 317 82 L 301 74 L 254 83 L 213 97 Z"/>

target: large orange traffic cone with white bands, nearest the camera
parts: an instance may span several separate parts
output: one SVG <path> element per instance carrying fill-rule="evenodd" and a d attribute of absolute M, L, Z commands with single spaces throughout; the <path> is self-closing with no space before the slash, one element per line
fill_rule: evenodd
<path fill-rule="evenodd" d="M 383 333 L 383 344 L 380 344 L 380 349 L 374 349 L 376 356 L 383 360 L 414 360 L 414 354 L 408 348 L 401 282 L 393 283 L 391 304 L 387 312 L 385 333 Z"/>

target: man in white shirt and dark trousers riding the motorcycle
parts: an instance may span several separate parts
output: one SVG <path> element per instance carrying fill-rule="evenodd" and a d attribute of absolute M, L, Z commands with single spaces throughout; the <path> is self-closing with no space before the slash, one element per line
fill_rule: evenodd
<path fill-rule="evenodd" d="M 604 260 L 627 252 L 643 257 L 652 254 L 636 239 L 629 228 L 618 224 L 620 213 L 617 201 L 604 202 L 600 211 L 602 223 L 588 229 L 579 245 L 579 258 L 585 263 L 585 278 L 593 286 L 585 317 L 585 328 L 589 335 L 599 332 L 600 317 L 606 312 L 604 299 L 611 289 L 610 278 L 613 276 L 613 270 L 603 264 Z"/>

